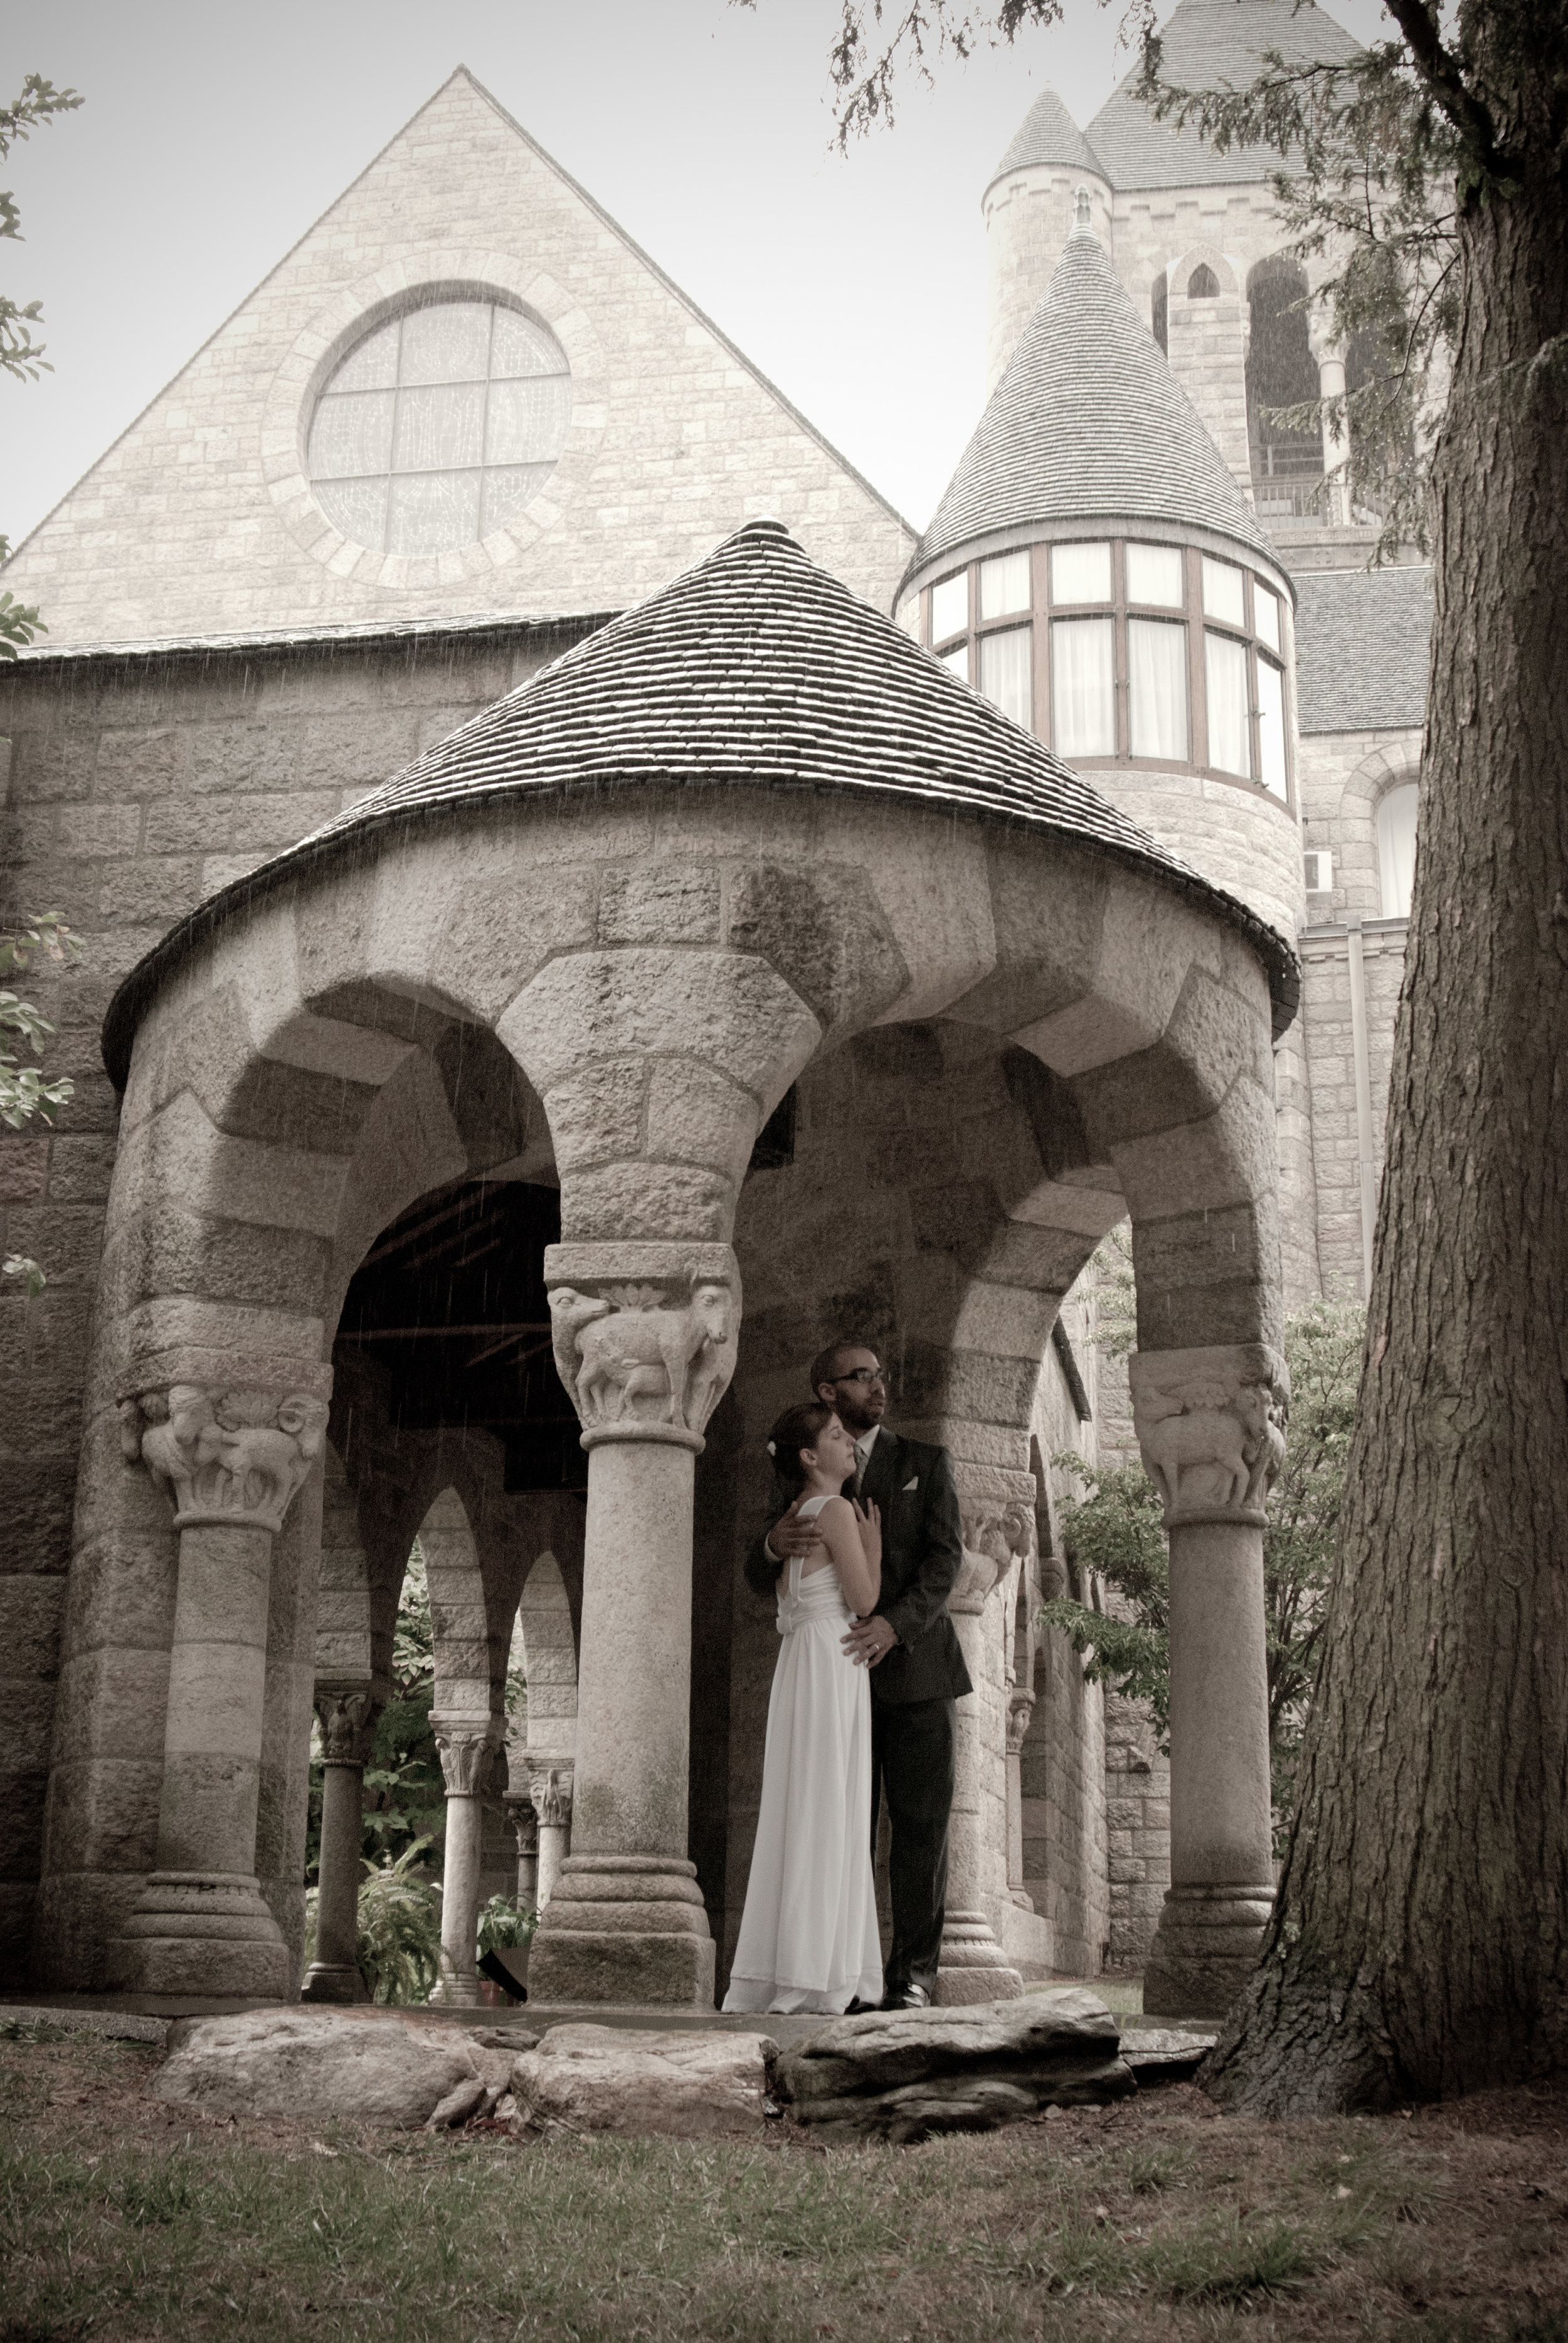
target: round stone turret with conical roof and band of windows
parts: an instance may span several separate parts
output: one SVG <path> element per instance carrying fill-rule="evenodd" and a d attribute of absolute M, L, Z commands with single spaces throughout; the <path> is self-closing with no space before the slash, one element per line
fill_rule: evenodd
<path fill-rule="evenodd" d="M 1095 194 L 900 586 L 900 619 L 1294 935 L 1294 588 L 1095 234 Z"/>

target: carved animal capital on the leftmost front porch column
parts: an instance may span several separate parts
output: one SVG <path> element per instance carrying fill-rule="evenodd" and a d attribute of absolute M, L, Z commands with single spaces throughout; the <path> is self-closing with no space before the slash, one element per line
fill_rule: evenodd
<path fill-rule="evenodd" d="M 176 1530 L 281 1530 L 323 1436 L 309 1392 L 173 1382 L 120 1401 L 120 1446 L 164 1485 Z"/>

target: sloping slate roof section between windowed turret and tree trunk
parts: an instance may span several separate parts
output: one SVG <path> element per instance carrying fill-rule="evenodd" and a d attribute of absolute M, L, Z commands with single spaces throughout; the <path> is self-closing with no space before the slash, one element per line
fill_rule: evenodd
<path fill-rule="evenodd" d="M 1427 719 L 1432 572 L 1305 569 L 1296 579 L 1303 733 L 1404 731 Z"/>

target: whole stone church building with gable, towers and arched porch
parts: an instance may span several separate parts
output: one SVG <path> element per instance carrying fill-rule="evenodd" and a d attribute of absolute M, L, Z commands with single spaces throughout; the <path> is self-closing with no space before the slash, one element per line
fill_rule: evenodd
<path fill-rule="evenodd" d="M 1322 26 L 1186 0 L 1167 52 Z M 0 1141 L 49 1270 L 0 1296 L 9 1977 L 298 1989 L 314 1713 L 305 1989 L 354 1992 L 417 1535 L 441 1992 L 511 1881 L 541 1992 L 722 1987 L 776 1652 L 738 1551 L 846 1326 L 963 1497 L 945 1992 L 1158 1924 L 1191 2006 L 1256 1942 L 1280 1314 L 1362 1289 L 1427 586 L 1259 438 L 1256 159 L 1130 105 L 1041 98 L 987 192 L 994 394 L 921 539 L 459 73 L 14 555 L 5 916 L 84 949 L 35 986 L 75 1097 Z M 1111 731 L 1052 752 L 1092 628 Z M 1127 1214 L 1132 1399 L 1076 1282 Z M 1038 1621 L 1052 1457 L 1132 1413 L 1202 1553 L 1170 1764 Z"/>

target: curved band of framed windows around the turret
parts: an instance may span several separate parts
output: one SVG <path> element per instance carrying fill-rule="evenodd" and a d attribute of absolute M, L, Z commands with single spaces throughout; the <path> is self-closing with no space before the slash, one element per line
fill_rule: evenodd
<path fill-rule="evenodd" d="M 1059 757 L 1195 769 L 1289 804 L 1284 612 L 1249 567 L 1069 539 L 973 572 L 928 588 L 923 640 Z"/>

